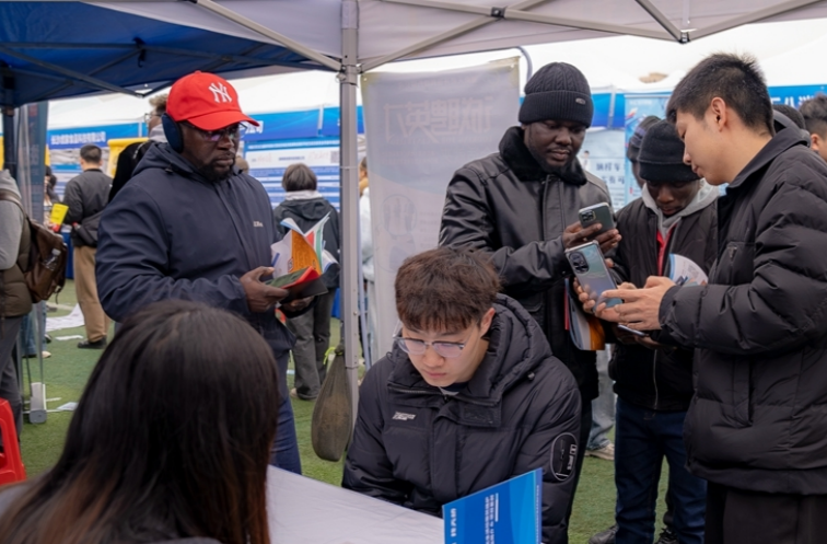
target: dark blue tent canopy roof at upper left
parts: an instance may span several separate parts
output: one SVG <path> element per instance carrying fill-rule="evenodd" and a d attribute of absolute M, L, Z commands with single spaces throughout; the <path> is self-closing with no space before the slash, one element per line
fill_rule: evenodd
<path fill-rule="evenodd" d="M 194 70 L 303 68 L 319 66 L 259 40 L 80 2 L 0 2 L 0 103 L 151 92 Z"/>

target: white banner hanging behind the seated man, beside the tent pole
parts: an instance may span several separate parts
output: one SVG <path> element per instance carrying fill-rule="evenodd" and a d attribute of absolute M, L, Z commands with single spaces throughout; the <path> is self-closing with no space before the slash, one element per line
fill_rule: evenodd
<path fill-rule="evenodd" d="M 497 152 L 517 123 L 519 59 L 429 73 L 369 72 L 362 97 L 381 357 L 397 323 L 396 270 L 436 246 L 453 173 Z"/>

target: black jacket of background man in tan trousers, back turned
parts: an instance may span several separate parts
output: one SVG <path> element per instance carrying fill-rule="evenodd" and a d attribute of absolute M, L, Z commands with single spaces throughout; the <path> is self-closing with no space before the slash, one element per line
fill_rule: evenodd
<path fill-rule="evenodd" d="M 79 223 L 83 227 L 86 222 L 93 231 L 97 231 L 100 213 L 109 202 L 109 189 L 112 177 L 104 174 L 100 169 L 90 169 L 80 175 L 69 180 L 63 193 L 63 204 L 69 207 L 66 212 L 66 224 Z M 95 234 L 96 236 L 96 234 Z M 81 246 L 86 244 L 77 229 L 72 229 L 72 244 Z"/>

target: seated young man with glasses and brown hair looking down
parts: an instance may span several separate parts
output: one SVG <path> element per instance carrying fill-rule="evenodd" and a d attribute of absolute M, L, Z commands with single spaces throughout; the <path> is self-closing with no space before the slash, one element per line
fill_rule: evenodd
<path fill-rule="evenodd" d="M 568 542 L 580 393 L 478 252 L 439 247 L 396 276 L 401 327 L 365 374 L 342 486 L 439 516 L 543 468 L 543 542 Z"/>

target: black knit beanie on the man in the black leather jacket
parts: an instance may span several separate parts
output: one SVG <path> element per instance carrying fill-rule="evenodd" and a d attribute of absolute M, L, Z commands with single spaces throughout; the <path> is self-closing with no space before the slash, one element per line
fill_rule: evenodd
<path fill-rule="evenodd" d="M 532 76 L 525 84 L 520 106 L 520 123 L 573 120 L 592 126 L 594 103 L 583 72 L 566 62 L 551 62 Z"/>

